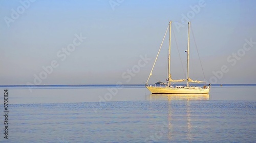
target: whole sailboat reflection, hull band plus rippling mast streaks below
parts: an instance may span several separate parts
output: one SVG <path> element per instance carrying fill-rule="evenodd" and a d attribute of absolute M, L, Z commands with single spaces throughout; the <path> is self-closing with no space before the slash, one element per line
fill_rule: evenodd
<path fill-rule="evenodd" d="M 199 119 L 197 112 L 193 111 L 194 109 L 191 107 L 190 101 L 209 99 L 209 94 L 151 94 L 146 96 L 146 100 L 149 101 L 168 101 L 165 108 L 167 111 L 167 119 L 164 121 L 168 129 L 166 134 L 167 142 L 175 142 L 177 141 L 177 138 L 185 139 L 188 142 L 193 142 L 195 140 L 195 133 L 193 130 L 199 126 L 197 125 Z M 173 104 L 172 100 L 183 100 L 185 101 L 182 102 L 184 106 L 176 106 L 177 103 Z M 180 133 L 180 129 L 183 129 L 182 134 Z"/>

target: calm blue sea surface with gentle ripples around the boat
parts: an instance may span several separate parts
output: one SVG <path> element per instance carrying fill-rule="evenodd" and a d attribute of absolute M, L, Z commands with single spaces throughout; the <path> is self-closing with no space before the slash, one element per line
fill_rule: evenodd
<path fill-rule="evenodd" d="M 152 95 L 143 85 L 0 89 L 0 142 L 256 142 L 256 85 L 216 85 L 209 95 Z"/>

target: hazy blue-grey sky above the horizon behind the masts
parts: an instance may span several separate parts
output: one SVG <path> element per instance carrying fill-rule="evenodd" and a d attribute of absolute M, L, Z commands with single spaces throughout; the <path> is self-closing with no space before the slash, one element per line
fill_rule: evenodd
<path fill-rule="evenodd" d="M 142 84 L 150 74 L 168 22 L 182 21 L 186 19 L 184 15 L 191 21 L 207 81 L 255 83 L 255 4 L 2 0 L 0 84 Z M 171 71 L 172 78 L 178 79 L 184 78 L 184 73 L 174 36 L 185 70 L 187 25 L 177 28 L 173 24 Z M 190 36 L 190 77 L 204 80 L 193 35 Z M 243 49 L 245 39 L 253 42 Z M 150 83 L 166 79 L 166 42 L 167 39 Z M 71 50 L 63 51 L 68 46 Z M 238 52 L 235 57 L 233 53 Z M 140 62 L 140 56 L 145 54 L 151 59 L 146 64 Z M 48 68 L 47 73 L 43 66 L 51 66 L 52 70 Z M 130 69 L 131 74 L 127 72 Z M 221 69 L 224 72 L 217 72 Z"/>

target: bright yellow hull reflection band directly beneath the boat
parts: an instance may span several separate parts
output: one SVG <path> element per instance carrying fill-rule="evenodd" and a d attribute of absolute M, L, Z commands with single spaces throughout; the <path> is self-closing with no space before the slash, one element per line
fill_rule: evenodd
<path fill-rule="evenodd" d="M 209 100 L 209 94 L 151 94 L 146 100 Z"/>

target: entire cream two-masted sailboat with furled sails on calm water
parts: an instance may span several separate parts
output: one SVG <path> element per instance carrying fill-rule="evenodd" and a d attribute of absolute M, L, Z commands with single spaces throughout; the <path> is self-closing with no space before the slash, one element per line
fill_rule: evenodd
<path fill-rule="evenodd" d="M 148 76 L 148 79 L 146 81 L 146 88 L 152 93 L 152 94 L 209 94 L 209 91 L 210 91 L 210 84 L 208 85 L 204 85 L 203 87 L 196 87 L 196 86 L 193 86 L 193 85 L 189 85 L 189 82 L 197 82 L 197 83 L 200 83 L 200 82 L 205 82 L 205 81 L 199 81 L 199 80 L 192 80 L 189 78 L 189 32 L 190 32 L 190 26 L 189 26 L 190 22 L 188 22 L 188 41 L 187 41 L 187 50 L 185 50 L 185 52 L 187 52 L 187 78 L 186 79 L 179 79 L 179 80 L 173 80 L 171 78 L 171 74 L 170 74 L 170 38 L 171 38 L 171 29 L 172 29 L 172 21 L 169 22 L 169 49 L 168 49 L 168 79 L 167 80 L 167 84 L 166 86 L 164 87 L 157 87 L 156 85 L 153 86 L 153 85 L 148 85 L 148 80 L 150 79 L 151 75 L 152 75 L 152 71 L 154 69 L 154 66 L 155 66 L 155 63 L 156 63 L 156 60 L 157 60 L 157 57 L 159 55 L 159 52 L 160 52 L 160 49 L 161 49 L 161 46 L 160 46 L 160 49 L 158 51 L 158 54 L 157 54 L 157 57 L 156 57 L 156 60 L 155 60 L 155 63 L 152 67 L 152 70 L 151 70 L 151 73 L 150 73 L 150 76 Z M 167 30 L 168 30 L 167 28 Z M 166 30 L 166 33 L 167 33 L 167 30 Z M 165 33 L 165 35 L 166 35 Z M 164 36 L 165 37 L 165 36 Z M 163 43 L 163 42 L 162 42 Z M 171 82 L 182 82 L 182 81 L 185 81 L 186 80 L 186 86 L 182 86 L 182 85 L 177 85 L 177 86 L 174 86 L 171 84 Z"/>

